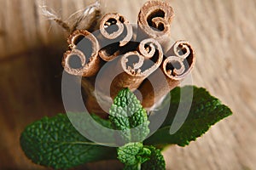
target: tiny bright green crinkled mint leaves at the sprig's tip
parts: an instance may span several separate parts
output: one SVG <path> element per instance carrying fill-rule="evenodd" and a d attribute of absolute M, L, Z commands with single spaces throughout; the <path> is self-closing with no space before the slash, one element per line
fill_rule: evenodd
<path fill-rule="evenodd" d="M 151 151 L 143 147 L 142 143 L 129 143 L 117 149 L 118 159 L 123 162 L 125 166 L 137 167 L 149 160 Z M 130 167 L 131 168 L 131 167 Z"/>

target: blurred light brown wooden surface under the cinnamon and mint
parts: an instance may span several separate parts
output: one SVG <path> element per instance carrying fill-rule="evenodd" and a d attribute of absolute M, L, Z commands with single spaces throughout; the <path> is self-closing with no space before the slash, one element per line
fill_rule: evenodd
<path fill-rule="evenodd" d="M 113 10 L 135 21 L 143 2 L 102 0 L 102 5 L 107 11 L 117 8 Z M 44 169 L 33 165 L 20 150 L 20 132 L 42 116 L 63 112 L 61 54 L 67 34 L 45 20 L 38 8 L 43 3 L 0 0 L 0 169 Z M 87 3 L 45 1 L 64 19 Z M 173 39 L 189 40 L 195 47 L 194 84 L 229 105 L 234 115 L 187 147 L 169 147 L 164 152 L 167 169 L 256 169 L 256 2 L 171 3 L 176 14 Z M 103 161 L 82 168 L 113 165 L 120 167 L 115 161 Z"/>

